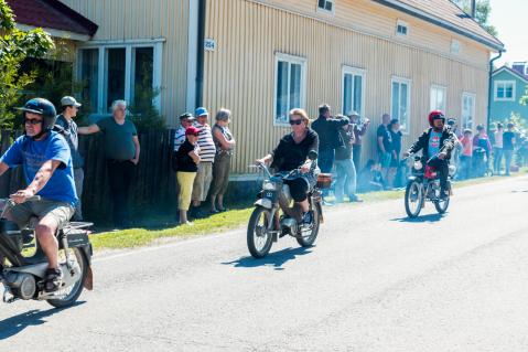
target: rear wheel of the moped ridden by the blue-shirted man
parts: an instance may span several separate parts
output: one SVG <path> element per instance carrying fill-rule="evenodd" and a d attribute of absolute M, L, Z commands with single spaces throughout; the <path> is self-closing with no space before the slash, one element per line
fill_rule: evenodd
<path fill-rule="evenodd" d="M 68 250 L 69 258 L 74 262 L 74 267 L 78 265 L 80 269 L 80 278 L 74 285 L 56 291 L 55 295 L 61 298 L 47 299 L 47 302 L 55 308 L 65 308 L 75 303 L 83 291 L 84 282 L 88 276 L 88 259 L 85 253 L 80 248 L 69 248 Z M 61 249 L 58 252 L 58 264 L 64 263 L 66 263 L 66 255 L 64 249 Z M 69 275 L 69 273 L 63 273 L 63 277 L 66 275 Z"/>

